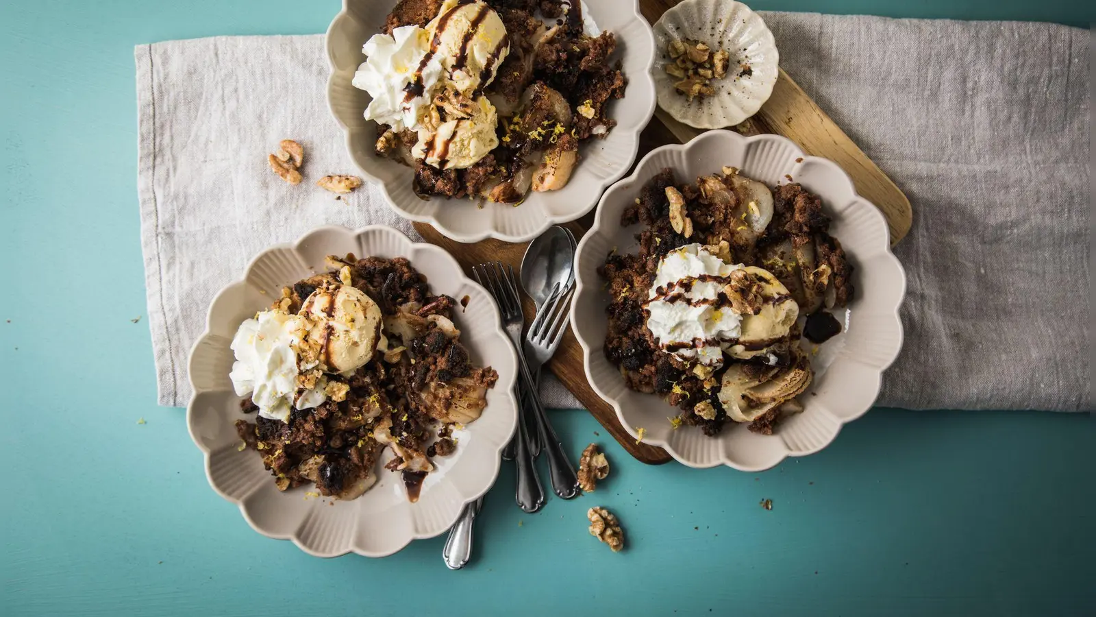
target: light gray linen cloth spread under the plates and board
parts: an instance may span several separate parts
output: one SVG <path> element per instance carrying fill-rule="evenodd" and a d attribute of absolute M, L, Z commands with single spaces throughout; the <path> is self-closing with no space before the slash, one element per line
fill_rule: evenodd
<path fill-rule="evenodd" d="M 1088 35 L 1041 23 L 765 13 L 781 66 L 913 202 L 898 255 L 905 346 L 881 405 L 1091 407 Z M 135 49 L 141 245 L 159 403 L 184 405 L 209 301 L 253 255 L 321 224 L 410 224 L 353 173 L 321 35 Z M 266 167 L 306 148 L 305 182 Z M 575 407 L 553 379 L 543 396 Z"/>

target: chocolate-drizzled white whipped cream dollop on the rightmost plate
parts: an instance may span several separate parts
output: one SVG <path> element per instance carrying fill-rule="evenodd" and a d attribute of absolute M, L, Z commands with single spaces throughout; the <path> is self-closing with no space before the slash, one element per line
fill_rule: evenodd
<path fill-rule="evenodd" d="M 659 345 L 682 359 L 721 366 L 723 346 L 738 339 L 742 316 L 719 294 L 740 269 L 699 244 L 666 254 L 646 303 L 647 327 Z"/>

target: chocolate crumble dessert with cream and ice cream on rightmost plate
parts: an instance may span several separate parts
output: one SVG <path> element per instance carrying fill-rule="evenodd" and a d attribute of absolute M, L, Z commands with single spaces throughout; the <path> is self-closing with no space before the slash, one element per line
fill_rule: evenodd
<path fill-rule="evenodd" d="M 772 434 L 802 411 L 811 356 L 841 332 L 826 308 L 853 296 L 822 202 L 800 184 L 769 189 L 732 167 L 681 184 L 665 169 L 625 210 L 639 251 L 606 258 L 605 355 L 628 388 L 680 410 L 674 426 L 728 422 Z M 836 328 L 834 326 L 836 325 Z"/>

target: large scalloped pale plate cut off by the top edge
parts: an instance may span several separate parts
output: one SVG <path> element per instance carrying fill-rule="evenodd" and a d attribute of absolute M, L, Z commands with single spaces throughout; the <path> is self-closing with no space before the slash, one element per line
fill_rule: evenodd
<path fill-rule="evenodd" d="M 376 124 L 363 116 L 369 96 L 351 83 L 357 66 L 365 61 L 362 45 L 380 32 L 395 0 L 343 0 L 343 10 L 328 29 L 331 77 L 328 103 L 346 134 L 346 147 L 362 175 L 380 187 L 389 205 L 400 216 L 430 223 L 446 237 L 463 243 L 498 238 L 526 242 L 557 223 L 574 221 L 590 212 L 597 195 L 625 175 L 639 148 L 639 133 L 654 113 L 654 37 L 639 14 L 636 0 L 591 2 L 589 14 L 601 30 L 617 35 L 615 56 L 628 79 L 625 97 L 609 103 L 609 116 L 617 121 L 604 139 L 583 144 L 571 181 L 558 191 L 530 192 L 520 206 L 486 203 L 478 209 L 472 200 L 432 198 L 422 200 L 411 189 L 412 171 L 374 152 Z"/>

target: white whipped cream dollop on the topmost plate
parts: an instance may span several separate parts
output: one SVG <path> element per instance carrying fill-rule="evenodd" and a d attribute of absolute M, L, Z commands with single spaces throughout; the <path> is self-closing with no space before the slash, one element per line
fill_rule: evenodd
<path fill-rule="evenodd" d="M 365 44 L 362 52 L 366 59 L 354 74 L 353 83 L 373 98 L 365 110 L 366 120 L 388 124 L 395 131 L 415 126 L 445 72 L 441 56 L 430 52 L 431 36 L 422 27 L 404 25 L 390 35 L 375 34 Z"/>

